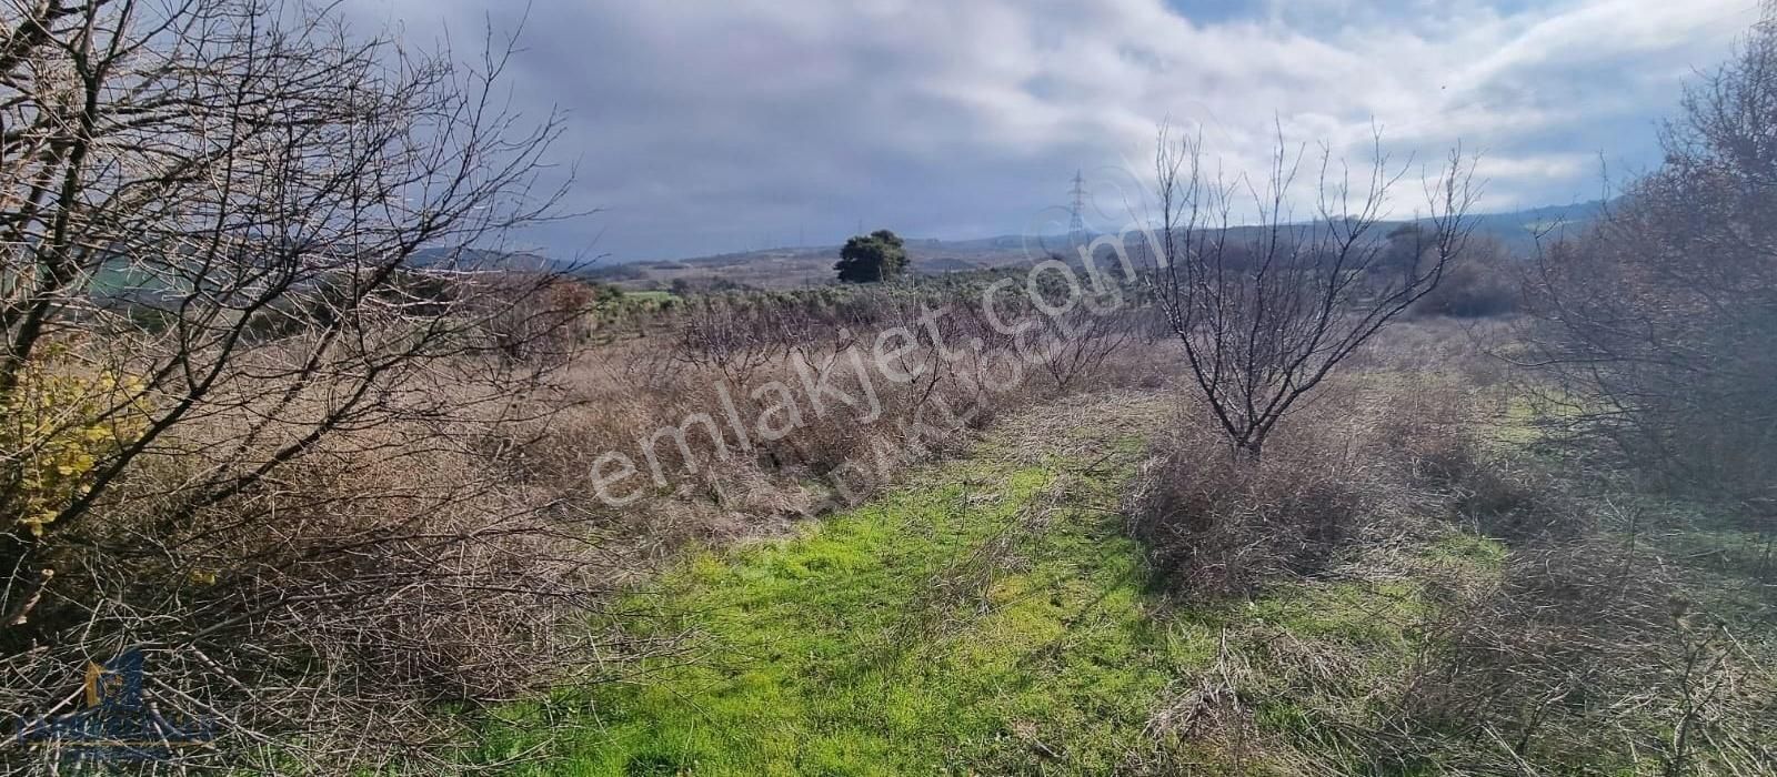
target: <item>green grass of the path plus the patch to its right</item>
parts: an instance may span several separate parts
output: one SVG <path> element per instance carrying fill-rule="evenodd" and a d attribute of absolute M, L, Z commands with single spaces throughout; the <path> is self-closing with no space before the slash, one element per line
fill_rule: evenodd
<path fill-rule="evenodd" d="M 1502 426 L 1528 413 L 1509 415 Z M 995 433 L 970 458 L 926 467 L 800 536 L 686 553 L 620 601 L 627 637 L 672 651 L 615 662 L 620 681 L 503 710 L 483 761 L 540 754 L 519 766 L 528 775 L 1088 775 L 1130 765 L 1432 775 L 1484 763 L 1491 743 L 1400 729 L 1398 694 L 1438 648 L 1427 642 L 1445 607 L 1438 591 L 1496 584 L 1507 545 L 1443 525 L 1388 555 L 1400 566 L 1386 575 L 1164 603 L 1116 514 L 1144 454 L 1137 429 L 1153 424 L 1095 424 L 1048 433 L 1045 449 L 1073 454 Z M 1677 557 L 1740 566 L 1763 559 L 1756 539 L 1649 532 Z M 1768 623 L 1765 600 L 1713 578 L 1708 587 L 1738 605 L 1713 610 Z M 1207 715 L 1150 727 L 1157 711 L 1189 711 L 1198 688 L 1217 687 L 1230 692 Z"/>

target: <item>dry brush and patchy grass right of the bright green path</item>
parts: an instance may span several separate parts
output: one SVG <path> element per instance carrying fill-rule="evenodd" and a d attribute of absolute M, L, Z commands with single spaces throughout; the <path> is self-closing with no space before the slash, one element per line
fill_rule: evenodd
<path fill-rule="evenodd" d="M 1162 436 L 1134 530 L 1214 655 L 1155 713 L 1151 768 L 1777 768 L 1768 593 L 1656 541 L 1720 529 L 1560 475 L 1470 385 L 1352 376 L 1256 468 L 1201 413 Z"/>

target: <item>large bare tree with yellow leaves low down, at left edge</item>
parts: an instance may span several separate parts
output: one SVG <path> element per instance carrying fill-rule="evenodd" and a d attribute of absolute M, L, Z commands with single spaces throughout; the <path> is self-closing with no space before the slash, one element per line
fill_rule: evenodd
<path fill-rule="evenodd" d="M 474 474 L 546 412 L 512 332 L 572 321 L 510 326 L 558 273 L 498 250 L 554 213 L 556 122 L 501 108 L 487 51 L 327 5 L 0 9 L 7 731 L 62 731 L 84 667 L 137 656 L 156 715 L 222 729 L 181 756 L 371 757 L 396 710 L 553 649 L 585 559 Z"/>

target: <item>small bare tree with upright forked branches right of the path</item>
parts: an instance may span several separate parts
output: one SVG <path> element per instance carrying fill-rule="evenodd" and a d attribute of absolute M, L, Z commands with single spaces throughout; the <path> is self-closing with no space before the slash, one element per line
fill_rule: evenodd
<path fill-rule="evenodd" d="M 1303 396 L 1443 280 L 1473 231 L 1478 190 L 1473 161 L 1452 151 L 1425 183 L 1427 229 L 1409 231 L 1414 241 L 1400 252 L 1379 227 L 1411 163 L 1391 167 L 1381 137 L 1359 181 L 1329 147 L 1310 158 L 1281 130 L 1263 181 L 1230 181 L 1208 163 L 1201 138 L 1162 128 L 1148 279 L 1215 420 L 1258 459 Z M 1317 174 L 1313 211 L 1297 220 L 1304 167 Z M 1253 220 L 1237 225 L 1242 204 Z"/>

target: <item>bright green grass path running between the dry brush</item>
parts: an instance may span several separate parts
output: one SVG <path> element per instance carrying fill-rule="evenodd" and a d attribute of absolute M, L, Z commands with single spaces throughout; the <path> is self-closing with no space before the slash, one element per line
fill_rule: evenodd
<path fill-rule="evenodd" d="M 1157 410 L 1045 408 L 791 539 L 631 596 L 633 681 L 515 710 L 528 773 L 1105 773 L 1203 644 L 1148 617 L 1116 498 Z M 570 731 L 542 742 L 537 731 Z"/>

